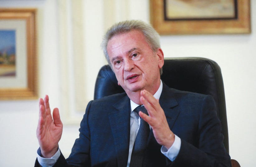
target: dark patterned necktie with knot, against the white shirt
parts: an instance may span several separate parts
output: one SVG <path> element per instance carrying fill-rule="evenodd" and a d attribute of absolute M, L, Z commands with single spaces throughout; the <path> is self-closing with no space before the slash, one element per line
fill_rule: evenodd
<path fill-rule="evenodd" d="M 148 115 L 147 110 L 144 106 L 138 106 L 134 111 L 139 115 L 139 111 Z M 147 141 L 149 138 L 149 124 L 140 119 L 140 128 L 136 136 L 134 146 L 131 153 L 130 167 L 141 167 L 144 159 L 144 153 L 147 147 Z"/>

